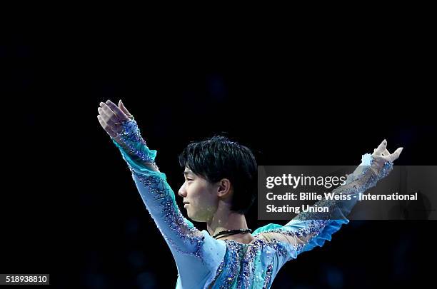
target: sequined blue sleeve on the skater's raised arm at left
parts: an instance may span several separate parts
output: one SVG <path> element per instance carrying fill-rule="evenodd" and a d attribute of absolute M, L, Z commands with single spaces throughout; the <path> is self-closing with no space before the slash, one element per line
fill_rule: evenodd
<path fill-rule="evenodd" d="M 126 137 L 114 144 L 126 161 L 142 200 L 169 245 L 184 288 L 196 288 L 214 278 L 226 245 L 212 238 L 206 230 L 197 230 L 184 218 L 176 204 L 174 191 L 166 175 L 151 169 L 156 151 L 151 151 L 141 138 L 136 123 L 126 123 Z M 156 242 L 159 244 L 158 242 Z M 151 248 L 153 250 L 153 248 Z M 165 260 L 160 260 L 160 263 Z M 193 274 L 192 272 L 196 272 Z M 212 280 L 212 279 L 211 279 Z"/>

